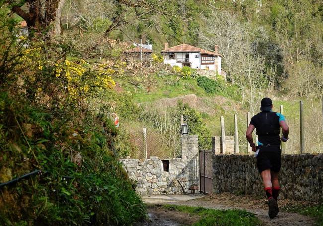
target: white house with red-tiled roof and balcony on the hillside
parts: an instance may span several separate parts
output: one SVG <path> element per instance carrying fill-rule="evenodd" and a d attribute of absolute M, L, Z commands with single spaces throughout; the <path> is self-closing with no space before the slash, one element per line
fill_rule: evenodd
<path fill-rule="evenodd" d="M 185 43 L 168 48 L 168 43 L 165 43 L 165 49 L 161 51 L 161 54 L 164 64 L 215 70 L 221 75 L 221 55 L 218 53 L 218 47 L 216 45 L 215 51 L 212 52 Z"/>

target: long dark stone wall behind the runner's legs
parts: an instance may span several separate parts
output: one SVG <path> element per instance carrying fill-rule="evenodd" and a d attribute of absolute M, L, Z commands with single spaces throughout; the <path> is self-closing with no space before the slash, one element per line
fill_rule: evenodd
<path fill-rule="evenodd" d="M 280 199 L 323 201 L 323 154 L 282 155 Z M 213 192 L 265 196 L 252 155 L 214 155 Z"/>

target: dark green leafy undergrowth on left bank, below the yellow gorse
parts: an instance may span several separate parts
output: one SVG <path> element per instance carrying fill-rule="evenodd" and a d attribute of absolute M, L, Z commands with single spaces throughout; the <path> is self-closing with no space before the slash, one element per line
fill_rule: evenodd
<path fill-rule="evenodd" d="M 109 151 L 118 134 L 111 120 L 72 125 L 3 92 L 0 115 L 0 182 L 43 172 L 2 190 L 0 225 L 131 225 L 145 217 Z"/>

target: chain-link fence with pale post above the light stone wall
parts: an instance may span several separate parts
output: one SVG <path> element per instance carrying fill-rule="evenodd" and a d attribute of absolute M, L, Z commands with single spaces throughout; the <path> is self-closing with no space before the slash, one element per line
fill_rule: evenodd
<path fill-rule="evenodd" d="M 154 129 L 129 131 L 130 143 L 135 147 L 132 158 L 175 158 L 180 156 L 180 134 L 161 134 Z"/>

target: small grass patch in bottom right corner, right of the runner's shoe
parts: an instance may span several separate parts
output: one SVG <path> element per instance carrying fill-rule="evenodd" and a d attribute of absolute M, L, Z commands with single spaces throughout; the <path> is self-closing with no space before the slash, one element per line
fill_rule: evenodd
<path fill-rule="evenodd" d="M 323 204 L 312 207 L 290 206 L 285 207 L 284 209 L 289 212 L 295 212 L 315 218 L 317 226 L 323 225 Z"/>

